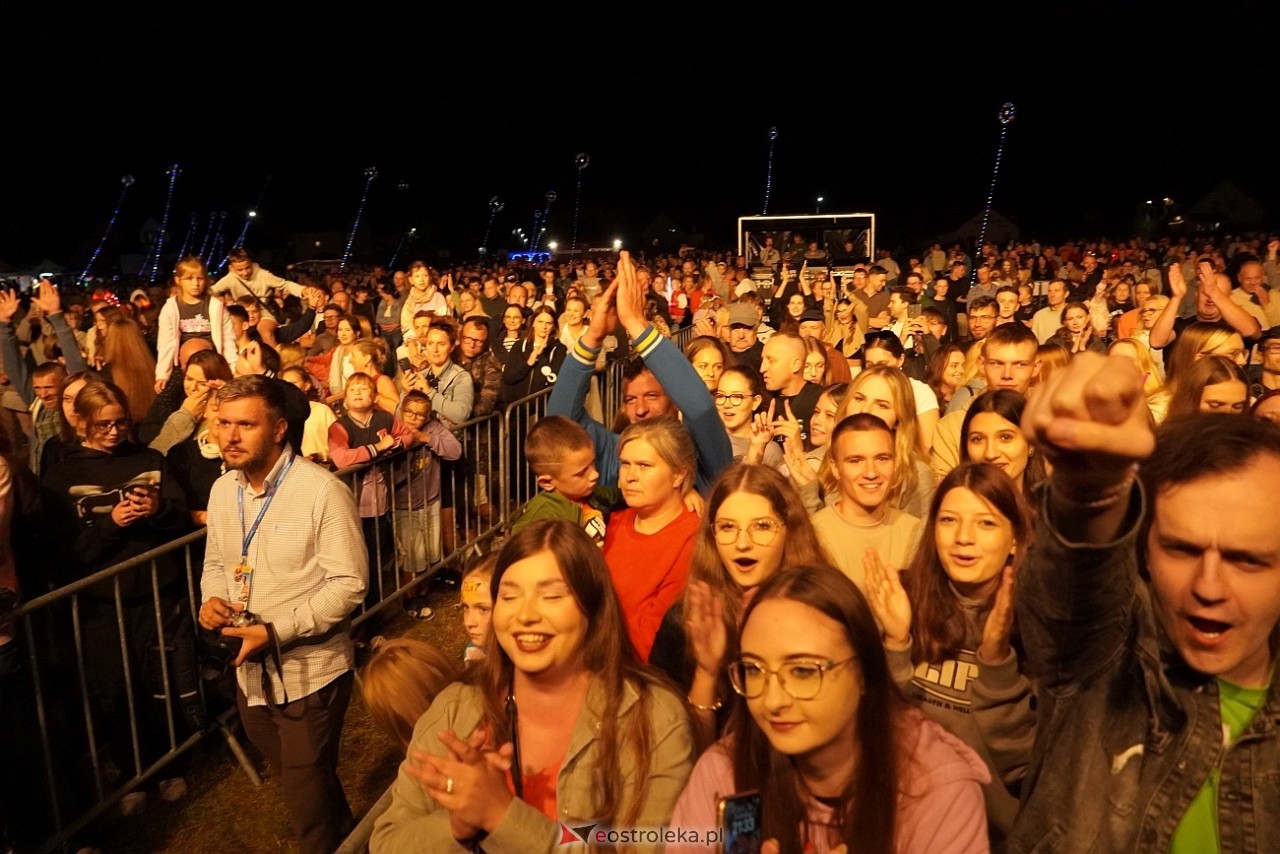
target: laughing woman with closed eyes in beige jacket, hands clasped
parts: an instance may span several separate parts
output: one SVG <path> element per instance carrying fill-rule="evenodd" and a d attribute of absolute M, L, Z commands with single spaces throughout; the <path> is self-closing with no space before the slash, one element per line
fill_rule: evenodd
<path fill-rule="evenodd" d="M 599 547 L 573 522 L 534 522 L 490 586 L 486 656 L 419 721 L 370 850 L 550 854 L 566 825 L 666 825 L 692 766 L 689 718 L 627 641 Z"/>

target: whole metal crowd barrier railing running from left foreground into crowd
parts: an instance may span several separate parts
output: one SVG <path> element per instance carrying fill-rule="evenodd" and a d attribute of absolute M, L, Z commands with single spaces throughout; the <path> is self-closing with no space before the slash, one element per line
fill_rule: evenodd
<path fill-rule="evenodd" d="M 690 333 L 680 330 L 673 343 L 684 347 Z M 622 362 L 598 375 L 607 421 L 621 408 L 621 378 Z M 483 544 L 493 544 L 536 494 L 532 474 L 520 463 L 529 428 L 545 415 L 549 396 L 544 389 L 503 412 L 457 425 L 456 460 L 434 458 L 420 446 L 335 472 L 364 511 L 370 556 L 369 594 L 353 625 L 385 617 L 433 571 L 461 567 Z M 434 492 L 433 466 L 438 515 L 430 506 L 436 502 L 426 501 Z M 192 531 L 5 617 L 29 668 L 5 679 L 29 693 L 31 704 L 0 726 L 15 727 L 14 743 L 29 735 L 33 745 L 29 758 L 5 759 L 6 772 L 31 773 L 28 791 L 44 793 L 42 804 L 24 810 L 28 822 L 49 828 L 37 851 L 65 846 L 165 769 L 182 776 L 186 754 L 214 732 L 253 785 L 261 784 L 236 735 L 234 685 L 227 675 L 211 681 L 200 673 L 204 543 L 205 530 Z M 141 599 L 124 593 L 136 588 L 136 574 L 146 574 L 150 585 Z M 22 763 L 32 767 L 19 768 Z"/>

